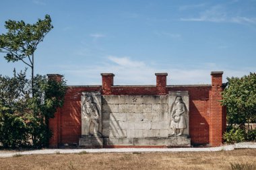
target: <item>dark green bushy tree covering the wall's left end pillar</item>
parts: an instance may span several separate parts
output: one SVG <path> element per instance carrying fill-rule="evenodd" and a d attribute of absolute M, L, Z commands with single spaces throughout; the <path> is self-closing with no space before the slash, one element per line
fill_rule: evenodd
<path fill-rule="evenodd" d="M 61 108 L 65 97 L 65 80 L 61 82 L 49 80 L 46 76 L 34 77 L 34 97 L 28 99 L 28 108 L 34 114 L 30 117 L 30 133 L 36 147 L 48 146 L 51 131 L 49 119 L 54 118 L 57 108 Z"/>

